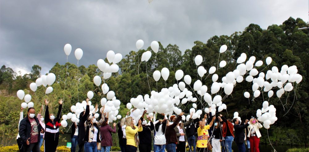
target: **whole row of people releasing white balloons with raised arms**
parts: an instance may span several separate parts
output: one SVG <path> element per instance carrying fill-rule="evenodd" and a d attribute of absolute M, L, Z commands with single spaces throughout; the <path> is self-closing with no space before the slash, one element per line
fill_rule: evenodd
<path fill-rule="evenodd" d="M 116 123 L 109 125 L 108 113 L 104 113 L 104 106 L 100 110 L 98 120 L 94 113 L 90 113 L 89 99 L 86 99 L 86 109 L 79 115 L 79 123 L 71 125 L 71 151 L 75 152 L 78 145 L 79 152 L 109 152 L 112 146 L 112 133 L 116 133 Z M 49 101 L 45 99 L 46 110 L 41 115 L 43 106 L 35 116 L 35 109 L 28 108 L 23 118 L 23 108 L 20 112 L 19 134 L 17 144 L 20 152 L 40 152 L 44 141 L 44 151 L 55 152 L 59 140 L 59 127 L 62 111 L 62 99 L 58 101 L 57 116 L 49 114 Z M 95 111 L 98 107 L 95 107 Z M 262 125 L 256 119 L 245 120 L 241 123 L 237 118 L 226 119 L 219 116 L 205 114 L 202 120 L 190 119 L 182 121 L 184 112 L 167 118 L 161 114 L 156 120 L 156 113 L 148 116 L 146 111 L 138 120 L 133 119 L 133 111 L 117 123 L 118 138 L 121 152 L 150 152 L 153 144 L 154 152 L 185 152 L 189 146 L 190 152 L 232 152 L 232 142 L 235 141 L 239 152 L 245 152 L 245 143 L 251 152 L 259 152 L 260 131 Z M 158 115 L 159 116 L 159 115 Z M 40 119 L 38 119 L 40 118 Z M 145 119 L 146 118 L 146 119 Z M 147 122 L 148 120 L 148 122 Z"/>

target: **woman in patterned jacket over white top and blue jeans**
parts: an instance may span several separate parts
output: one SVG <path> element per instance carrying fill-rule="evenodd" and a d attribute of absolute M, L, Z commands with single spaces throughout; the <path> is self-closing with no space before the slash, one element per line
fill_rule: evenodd
<path fill-rule="evenodd" d="M 89 103 L 87 102 L 87 105 L 88 104 Z M 85 152 L 97 152 L 98 151 L 97 143 L 101 142 L 99 126 L 96 123 L 96 119 L 94 118 L 93 115 L 94 114 L 90 114 L 90 115 L 88 114 L 87 121 L 85 122 L 86 134 L 83 140 L 85 142 L 84 144 Z"/>

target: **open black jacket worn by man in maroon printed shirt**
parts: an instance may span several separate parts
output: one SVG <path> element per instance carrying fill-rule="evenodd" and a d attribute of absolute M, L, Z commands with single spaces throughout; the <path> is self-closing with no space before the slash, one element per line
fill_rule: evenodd
<path fill-rule="evenodd" d="M 37 119 L 36 116 L 34 116 L 33 119 L 36 120 L 36 124 L 38 125 L 38 131 L 39 131 L 38 142 L 39 142 L 40 141 L 40 132 L 41 132 L 41 129 L 43 129 L 43 128 L 40 125 L 39 119 Z M 43 131 L 44 131 L 44 129 L 43 129 Z M 31 132 L 31 124 L 30 124 L 30 121 L 29 121 L 28 115 L 27 115 L 23 120 L 20 121 L 20 124 L 19 124 L 19 136 L 21 138 L 23 145 L 27 145 L 27 139 L 31 137 L 30 132 Z M 30 140 L 29 140 L 29 142 L 30 142 Z"/>

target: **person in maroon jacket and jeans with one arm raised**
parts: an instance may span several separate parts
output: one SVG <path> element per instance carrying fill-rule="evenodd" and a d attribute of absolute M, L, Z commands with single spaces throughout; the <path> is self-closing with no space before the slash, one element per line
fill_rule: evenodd
<path fill-rule="evenodd" d="M 116 123 L 113 123 L 113 128 L 108 125 L 108 114 L 104 119 L 104 123 L 100 127 L 101 132 L 101 152 L 109 152 L 112 147 L 112 133 L 116 133 Z"/>

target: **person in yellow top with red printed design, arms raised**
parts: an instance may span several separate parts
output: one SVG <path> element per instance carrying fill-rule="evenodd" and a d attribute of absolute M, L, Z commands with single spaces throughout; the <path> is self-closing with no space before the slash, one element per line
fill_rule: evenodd
<path fill-rule="evenodd" d="M 208 146 L 208 129 L 213 125 L 215 117 L 212 118 L 209 125 L 205 126 L 205 120 L 207 118 L 207 115 L 204 115 L 204 118 L 202 121 L 199 121 L 199 127 L 197 128 L 197 152 L 204 152 L 207 151 Z"/>

